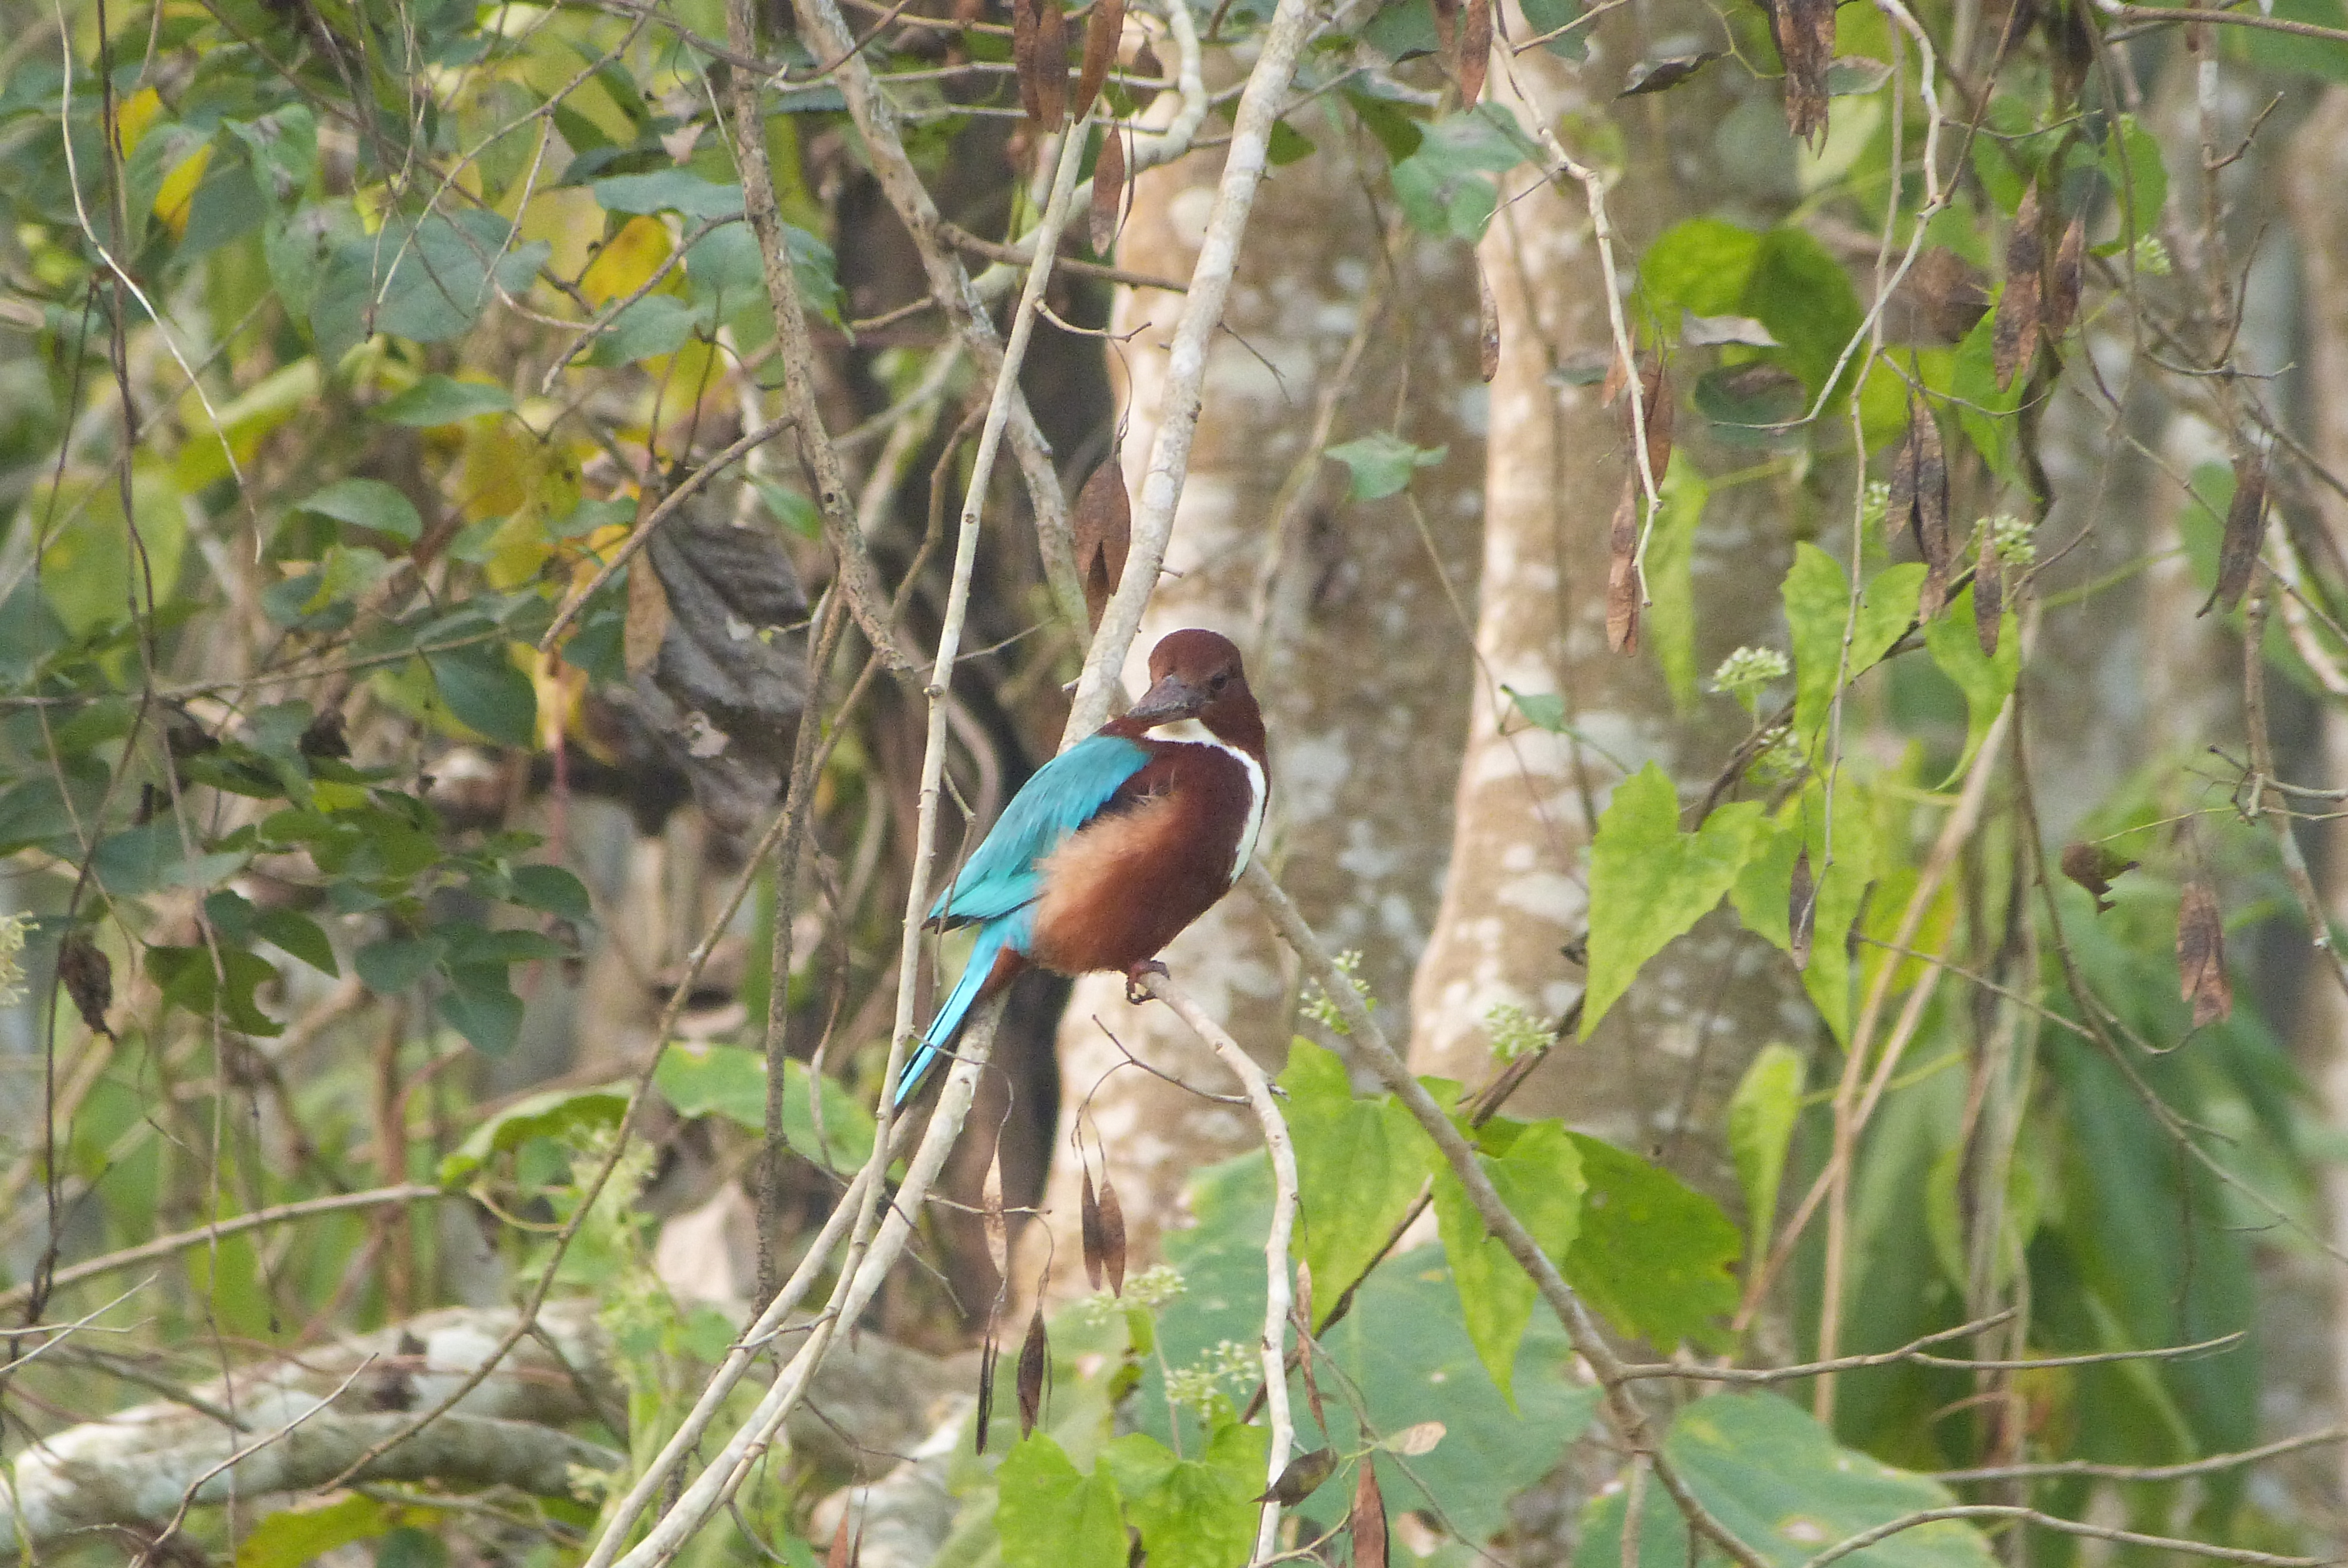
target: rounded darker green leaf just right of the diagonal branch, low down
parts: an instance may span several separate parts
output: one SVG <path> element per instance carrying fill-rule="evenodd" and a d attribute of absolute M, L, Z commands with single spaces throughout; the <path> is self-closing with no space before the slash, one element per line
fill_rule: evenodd
<path fill-rule="evenodd" d="M 1716 1343 L 1716 1317 L 1738 1305 L 1745 1251 L 1721 1207 L 1613 1143 L 1573 1134 L 1583 1157 L 1583 1230 L 1566 1279 L 1622 1333 L 1658 1350 Z"/>

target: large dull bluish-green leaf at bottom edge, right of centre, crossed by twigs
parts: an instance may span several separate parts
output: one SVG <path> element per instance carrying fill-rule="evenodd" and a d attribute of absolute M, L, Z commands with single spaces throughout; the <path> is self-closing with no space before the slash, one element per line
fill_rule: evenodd
<path fill-rule="evenodd" d="M 1907 1514 L 1949 1507 L 1939 1481 L 1841 1448 L 1775 1394 L 1712 1394 L 1672 1420 L 1662 1451 L 1714 1519 L 1775 1568 L 1799 1568 L 1827 1547 Z M 1622 1561 L 1627 1493 L 1583 1512 L 1576 1568 Z M 1688 1561 L 1688 1528 L 1660 1486 L 1644 1488 L 1639 1561 Z M 1935 1519 L 1841 1559 L 1853 1568 L 1993 1568 L 1989 1542 L 1961 1519 Z"/>

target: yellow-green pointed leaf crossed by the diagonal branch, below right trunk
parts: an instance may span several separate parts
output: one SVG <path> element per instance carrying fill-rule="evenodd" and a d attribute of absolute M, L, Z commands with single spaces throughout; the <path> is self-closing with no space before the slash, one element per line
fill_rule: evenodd
<path fill-rule="evenodd" d="M 1477 1136 L 1484 1174 L 1540 1251 L 1564 1265 L 1580 1232 L 1583 1162 L 1564 1122 L 1496 1117 Z M 1435 1223 L 1460 1293 L 1460 1322 L 1500 1397 L 1517 1404 L 1517 1345 L 1533 1317 L 1533 1277 L 1484 1228 L 1468 1188 L 1449 1169 L 1435 1176 Z"/>

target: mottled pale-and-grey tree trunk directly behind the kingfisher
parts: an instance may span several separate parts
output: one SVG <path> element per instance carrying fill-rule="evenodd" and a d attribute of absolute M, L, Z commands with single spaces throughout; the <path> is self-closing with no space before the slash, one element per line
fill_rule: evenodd
<path fill-rule="evenodd" d="M 1219 153 L 1193 155 L 1139 181 L 1122 265 L 1188 277 L 1219 162 Z M 1120 300 L 1113 322 L 1134 479 L 1176 312 L 1179 298 L 1141 291 Z M 1127 688 L 1146 685 L 1148 650 L 1174 627 L 1216 627 L 1240 641 L 1270 728 L 1273 805 L 1259 852 L 1334 944 L 1362 953 L 1362 976 L 1392 1009 L 1432 927 L 1449 850 L 1449 737 L 1468 702 L 1470 643 L 1444 575 L 1472 577 L 1482 425 L 1465 251 L 1406 232 L 1381 242 L 1352 153 L 1327 136 L 1259 197 L 1209 364 L 1167 577 L 1134 641 Z M 1413 479 L 1416 512 L 1404 498 L 1348 502 L 1345 472 L 1317 458 L 1320 444 L 1371 430 L 1449 448 Z M 1167 965 L 1251 1054 L 1277 1066 L 1294 967 L 1244 899 L 1219 904 Z M 1165 1007 L 1127 1005 L 1118 976 L 1078 984 L 1059 1052 L 1045 1289 L 1071 1279 L 1082 1289 L 1073 1138 L 1094 1169 L 1094 1138 L 1106 1145 L 1139 1261 L 1160 1228 L 1181 1223 L 1190 1174 L 1251 1148 L 1256 1129 L 1242 1108 L 1127 1066 L 1132 1052 L 1183 1082 L 1233 1089 Z M 1040 1270 L 1043 1249 L 1031 1256 Z"/>

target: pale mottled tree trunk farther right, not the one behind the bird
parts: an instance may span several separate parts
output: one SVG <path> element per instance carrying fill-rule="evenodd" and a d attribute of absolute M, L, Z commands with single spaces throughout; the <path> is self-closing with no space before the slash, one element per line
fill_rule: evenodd
<path fill-rule="evenodd" d="M 1585 92 L 1585 80 L 1611 77 L 1599 70 L 1606 42 L 1615 35 L 1601 38 L 1580 70 L 1538 49 L 1522 54 L 1510 70 L 1496 68 L 1491 96 L 1529 127 L 1597 113 L 1601 99 Z M 1637 47 L 1630 35 L 1620 45 Z M 1707 211 L 1714 195 L 1684 174 L 1707 160 L 1684 153 L 1709 146 L 1719 106 L 1681 96 L 1672 94 L 1669 106 L 1639 99 L 1625 113 L 1632 169 L 1608 192 L 1625 272 L 1637 246 Z M 1580 995 L 1566 948 L 1587 927 L 1590 833 L 1622 768 L 1655 758 L 1688 786 L 1742 735 L 1740 716 L 1721 699 L 1700 699 L 1714 704 L 1709 711 L 1676 714 L 1653 653 L 1606 648 L 1608 528 L 1630 441 L 1620 411 L 1601 406 L 1601 387 L 1554 373 L 1613 352 L 1606 279 L 1583 192 L 1571 183 L 1536 185 L 1533 169 L 1505 176 L 1500 216 L 1479 246 L 1500 315 L 1479 678 L 1442 915 L 1411 991 L 1411 1063 L 1470 1084 L 1496 1066 L 1493 1009 L 1559 1019 Z M 1700 460 L 1721 467 L 1714 455 Z M 1784 500 L 1738 491 L 1709 507 L 1695 545 L 1698 669 L 1738 643 L 1782 638 L 1770 589 L 1792 552 L 1775 523 Z M 1587 744 L 1531 728 L 1500 688 L 1561 695 Z M 1538 1070 L 1517 1108 L 1561 1113 L 1662 1155 L 1726 1197 L 1735 1183 L 1716 1134 L 1719 1106 L 1754 1049 L 1810 1033 L 1792 995 L 1782 960 L 1714 915 L 1648 967 L 1587 1045 L 1568 1042 Z M 1693 1141 L 1681 1136 L 1698 1129 Z"/>

